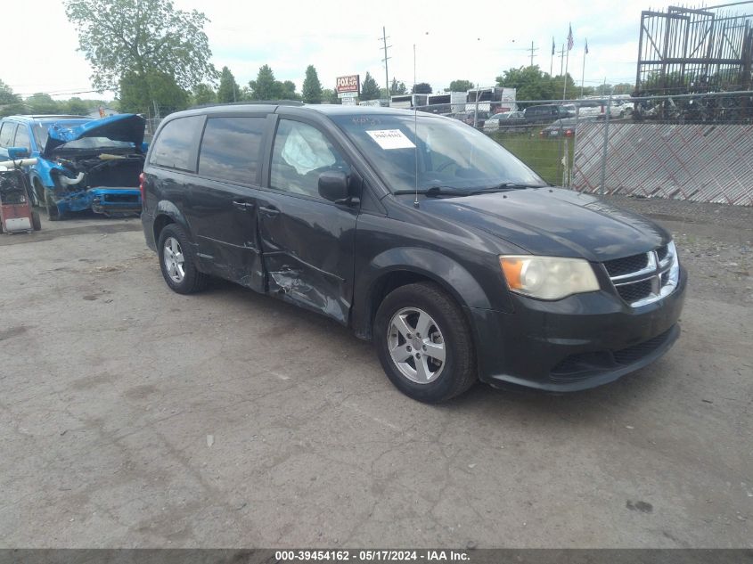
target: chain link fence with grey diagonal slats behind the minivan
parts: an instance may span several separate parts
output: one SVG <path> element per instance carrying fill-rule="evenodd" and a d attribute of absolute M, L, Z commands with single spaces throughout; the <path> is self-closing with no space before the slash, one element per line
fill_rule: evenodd
<path fill-rule="evenodd" d="M 431 106 L 417 108 L 440 113 Z M 517 101 L 450 112 L 579 192 L 753 206 L 753 91 Z"/>

